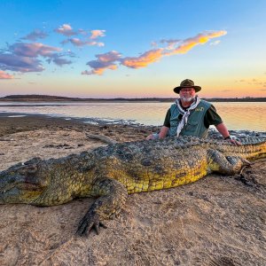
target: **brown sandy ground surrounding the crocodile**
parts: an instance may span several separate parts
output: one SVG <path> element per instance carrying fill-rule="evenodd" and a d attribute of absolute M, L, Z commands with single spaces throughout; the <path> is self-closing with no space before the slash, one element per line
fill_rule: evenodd
<path fill-rule="evenodd" d="M 78 121 L 0 117 L 0 170 L 58 158 L 151 130 Z M 132 194 L 108 228 L 74 235 L 93 199 L 56 207 L 0 206 L 0 265 L 266 265 L 266 160 L 240 176 L 206 176 L 167 191 Z"/>

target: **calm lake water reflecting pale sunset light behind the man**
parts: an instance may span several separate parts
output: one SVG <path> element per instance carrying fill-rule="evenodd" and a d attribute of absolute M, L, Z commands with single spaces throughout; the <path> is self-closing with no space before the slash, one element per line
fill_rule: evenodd
<path fill-rule="evenodd" d="M 81 118 L 87 122 L 136 122 L 160 126 L 171 103 L 0 103 L 0 113 L 46 114 L 69 118 Z M 265 102 L 215 102 L 214 106 L 228 129 L 266 131 Z"/>

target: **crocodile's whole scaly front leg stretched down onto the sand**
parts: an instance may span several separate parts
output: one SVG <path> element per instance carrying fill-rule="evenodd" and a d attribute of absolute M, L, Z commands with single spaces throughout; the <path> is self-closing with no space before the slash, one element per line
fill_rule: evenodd
<path fill-rule="evenodd" d="M 111 178 L 97 178 L 92 184 L 91 196 L 100 196 L 82 218 L 76 231 L 86 235 L 92 228 L 98 233 L 99 226 L 106 227 L 102 221 L 118 215 L 124 205 L 128 192 L 125 186 Z"/>

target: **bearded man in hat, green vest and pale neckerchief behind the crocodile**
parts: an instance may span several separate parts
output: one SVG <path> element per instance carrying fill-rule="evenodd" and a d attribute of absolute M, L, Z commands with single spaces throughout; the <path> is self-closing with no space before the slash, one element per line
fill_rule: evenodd
<path fill-rule="evenodd" d="M 196 95 L 200 90 L 200 86 L 195 86 L 192 80 L 186 79 L 181 82 L 180 86 L 174 89 L 180 98 L 177 98 L 176 103 L 168 109 L 160 133 L 149 135 L 146 139 L 184 135 L 207 137 L 209 126 L 215 125 L 223 139 L 239 145 L 238 141 L 231 139 L 221 117 L 216 113 L 215 106 Z"/>

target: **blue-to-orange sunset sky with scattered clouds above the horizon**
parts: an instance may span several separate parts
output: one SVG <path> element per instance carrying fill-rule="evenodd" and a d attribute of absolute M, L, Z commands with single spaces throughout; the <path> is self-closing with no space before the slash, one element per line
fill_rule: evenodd
<path fill-rule="evenodd" d="M 264 0 L 0 0 L 0 97 L 266 97 Z"/>

